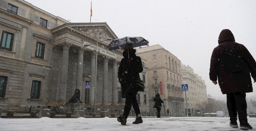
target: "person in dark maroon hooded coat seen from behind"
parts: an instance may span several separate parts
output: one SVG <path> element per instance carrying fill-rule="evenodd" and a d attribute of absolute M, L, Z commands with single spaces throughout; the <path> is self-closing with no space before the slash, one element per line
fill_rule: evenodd
<path fill-rule="evenodd" d="M 242 44 L 235 42 L 234 35 L 228 29 L 220 32 L 219 46 L 213 49 L 209 76 L 216 85 L 217 79 L 222 94 L 227 94 L 227 107 L 230 116 L 230 126 L 238 128 L 237 114 L 240 121 L 240 129 L 252 129 L 247 122 L 246 92 L 253 92 L 251 76 L 256 82 L 256 62 L 250 52 Z M 228 73 L 221 63 L 221 52 L 225 49 L 237 49 L 242 56 L 240 65 L 242 71 L 233 74 Z M 231 67 L 230 67 L 231 68 Z M 250 76 L 251 73 L 251 76 Z"/>

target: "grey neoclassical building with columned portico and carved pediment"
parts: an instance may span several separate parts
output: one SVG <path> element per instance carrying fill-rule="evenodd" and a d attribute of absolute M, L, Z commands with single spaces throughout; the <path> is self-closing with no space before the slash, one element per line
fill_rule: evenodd
<path fill-rule="evenodd" d="M 107 39 L 118 37 L 106 22 L 70 23 L 23 0 L 0 0 L 0 37 L 4 110 L 64 105 L 75 89 L 81 91 L 82 106 L 123 109 L 117 78 L 123 50 L 107 49 Z M 85 89 L 87 82 L 90 89 Z M 148 88 L 139 94 L 141 109 L 148 111 Z"/>

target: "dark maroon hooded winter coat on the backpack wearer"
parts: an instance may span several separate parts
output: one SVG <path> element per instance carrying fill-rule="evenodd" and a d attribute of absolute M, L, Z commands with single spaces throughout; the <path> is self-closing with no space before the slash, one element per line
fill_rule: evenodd
<path fill-rule="evenodd" d="M 218 39 L 219 45 L 225 49 L 231 49 L 237 43 L 234 35 L 228 29 L 222 30 Z M 211 55 L 211 64 L 209 76 L 211 81 L 217 81 L 223 94 L 233 92 L 253 92 L 251 76 L 256 77 L 256 62 L 253 56 L 242 44 L 238 44 L 235 49 L 239 50 L 244 60 L 243 71 L 239 74 L 228 75 L 220 64 L 220 54 L 223 48 L 215 47 Z M 250 76 L 251 73 L 251 76 Z"/>

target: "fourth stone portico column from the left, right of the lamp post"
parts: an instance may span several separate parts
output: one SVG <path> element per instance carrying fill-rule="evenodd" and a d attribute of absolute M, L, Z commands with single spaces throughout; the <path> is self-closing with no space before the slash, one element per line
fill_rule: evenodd
<path fill-rule="evenodd" d="M 102 87 L 102 104 L 107 104 L 107 96 L 108 96 L 108 89 L 107 89 L 107 83 L 108 83 L 108 62 L 109 58 L 104 58 L 104 71 L 103 71 L 103 87 Z"/>

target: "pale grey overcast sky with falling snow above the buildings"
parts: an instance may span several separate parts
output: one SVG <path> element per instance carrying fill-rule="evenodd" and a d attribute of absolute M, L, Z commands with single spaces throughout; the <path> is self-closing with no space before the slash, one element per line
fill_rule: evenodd
<path fill-rule="evenodd" d="M 90 0 L 26 0 L 71 22 L 90 22 Z M 202 76 L 207 93 L 225 97 L 209 80 L 218 36 L 230 29 L 256 58 L 256 0 L 92 0 L 91 22 L 107 22 L 120 38 L 141 36 L 169 50 Z M 247 96 L 256 96 L 254 92 Z"/>

